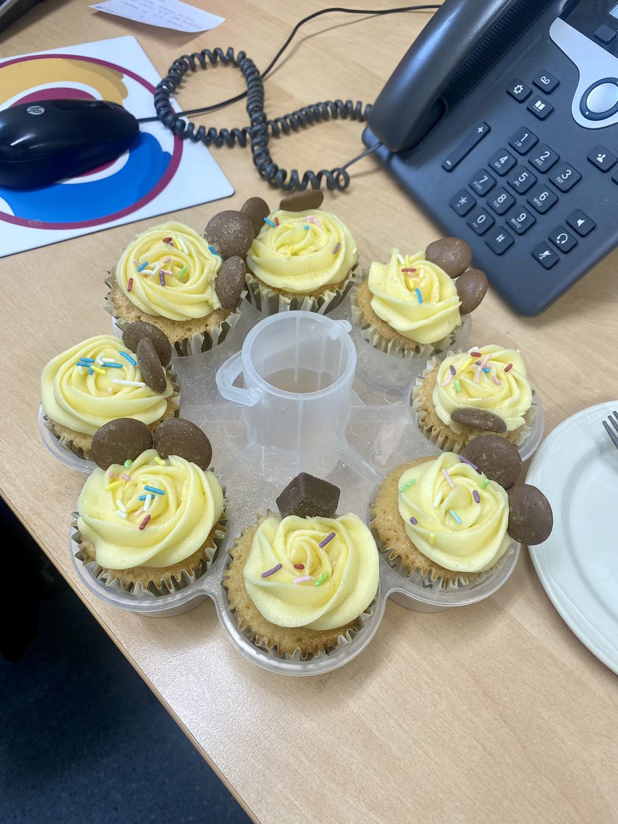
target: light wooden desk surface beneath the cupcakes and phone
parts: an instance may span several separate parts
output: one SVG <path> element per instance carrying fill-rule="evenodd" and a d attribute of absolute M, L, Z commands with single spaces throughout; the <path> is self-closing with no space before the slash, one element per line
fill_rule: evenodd
<path fill-rule="evenodd" d="M 265 67 L 301 16 L 325 2 L 194 0 L 228 16 L 203 35 L 180 35 L 46 0 L 10 27 L 2 57 L 124 34 L 138 37 L 160 73 L 178 54 L 232 44 Z M 386 7 L 374 0 L 372 7 Z M 266 84 L 269 115 L 329 97 L 372 101 L 428 19 L 427 12 L 303 28 Z M 239 73 L 208 69 L 180 93 L 185 107 L 244 88 Z M 208 124 L 245 124 L 242 103 Z M 361 127 L 316 127 L 275 141 L 283 166 L 321 168 L 358 153 Z M 215 151 L 236 194 L 271 203 L 250 154 Z M 424 248 L 435 227 L 372 159 L 345 194 L 327 201 L 358 238 L 362 262 L 398 244 Z M 176 213 L 196 229 L 218 204 Z M 53 460 L 36 427 L 41 369 L 77 340 L 109 329 L 105 266 L 147 222 L 0 260 L 2 494 L 196 747 L 264 824 L 283 822 L 618 821 L 618 681 L 560 620 L 527 553 L 488 601 L 433 615 L 390 603 L 377 638 L 348 666 L 291 679 L 255 667 L 219 629 L 207 602 L 149 620 L 95 600 L 76 582 L 68 524 L 83 476 Z M 542 396 L 547 430 L 616 397 L 618 257 L 541 317 L 521 318 L 494 295 L 475 311 L 475 338 L 521 348 Z M 527 265 L 522 262 L 522 265 Z M 18 564 L 17 564 L 18 569 Z M 76 695 L 76 700 L 82 696 Z"/>

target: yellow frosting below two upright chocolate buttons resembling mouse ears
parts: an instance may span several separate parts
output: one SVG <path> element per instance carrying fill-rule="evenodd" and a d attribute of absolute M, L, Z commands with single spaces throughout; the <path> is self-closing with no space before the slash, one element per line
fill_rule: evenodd
<path fill-rule="evenodd" d="M 96 469 L 82 489 L 77 528 L 95 546 L 96 562 L 102 567 L 177 564 L 204 545 L 221 517 L 223 493 L 213 472 L 178 456 L 170 456 L 161 466 L 155 457 L 158 452 L 147 449 L 129 469 Z M 123 480 L 123 475 L 130 480 Z M 139 500 L 147 494 L 145 486 L 165 492 L 152 495 L 147 513 L 145 502 Z M 150 520 L 140 529 L 147 515 Z"/>

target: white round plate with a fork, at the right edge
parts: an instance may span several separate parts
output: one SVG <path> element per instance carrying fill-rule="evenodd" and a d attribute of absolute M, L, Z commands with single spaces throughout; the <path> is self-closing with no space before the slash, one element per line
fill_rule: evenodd
<path fill-rule="evenodd" d="M 618 450 L 602 419 L 618 400 L 559 424 L 532 459 L 527 483 L 542 489 L 554 530 L 530 547 L 545 592 L 578 639 L 618 673 Z"/>

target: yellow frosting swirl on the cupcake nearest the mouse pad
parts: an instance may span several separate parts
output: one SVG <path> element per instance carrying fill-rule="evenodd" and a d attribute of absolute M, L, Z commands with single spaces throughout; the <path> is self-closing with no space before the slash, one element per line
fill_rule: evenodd
<path fill-rule="evenodd" d="M 172 245 L 163 242 L 167 237 L 171 237 Z M 146 268 L 138 272 L 144 263 Z M 221 308 L 214 289 L 221 263 L 193 229 L 182 223 L 162 223 L 129 243 L 116 266 L 116 282 L 147 315 L 188 321 Z M 165 286 L 161 283 L 162 269 Z M 129 278 L 133 278 L 130 292 Z"/>

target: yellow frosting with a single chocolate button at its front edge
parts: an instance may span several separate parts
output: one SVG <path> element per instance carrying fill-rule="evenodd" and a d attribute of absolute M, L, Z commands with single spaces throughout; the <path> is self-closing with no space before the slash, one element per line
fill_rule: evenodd
<path fill-rule="evenodd" d="M 480 352 L 480 358 L 470 352 Z M 453 411 L 475 406 L 499 415 L 508 432 L 522 426 L 532 403 L 532 390 L 521 355 L 514 349 L 503 349 L 494 344 L 472 348 L 470 352 L 445 358 L 438 367 L 433 389 L 433 405 L 438 418 L 459 434 L 463 428 L 451 419 Z M 489 372 L 483 372 L 477 361 Z M 513 364 L 511 368 L 508 368 L 509 363 Z M 452 375 L 451 366 L 455 375 Z"/>

